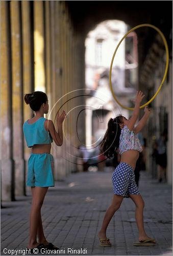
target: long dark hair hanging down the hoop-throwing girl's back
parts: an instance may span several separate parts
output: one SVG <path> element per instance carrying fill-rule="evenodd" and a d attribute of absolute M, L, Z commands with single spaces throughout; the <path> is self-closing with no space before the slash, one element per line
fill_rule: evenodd
<path fill-rule="evenodd" d="M 115 117 L 114 119 L 109 119 L 108 129 L 101 142 L 101 153 L 108 158 L 111 158 L 119 147 L 119 137 L 121 134 L 121 129 L 119 126 L 120 123 L 123 123 L 121 115 Z"/>

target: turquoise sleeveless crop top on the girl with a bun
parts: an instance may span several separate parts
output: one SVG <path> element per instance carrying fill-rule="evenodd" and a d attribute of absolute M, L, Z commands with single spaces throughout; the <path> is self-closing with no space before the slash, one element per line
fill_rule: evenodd
<path fill-rule="evenodd" d="M 45 130 L 44 122 L 46 118 L 40 117 L 34 123 L 28 123 L 28 120 L 23 124 L 23 133 L 28 147 L 35 144 L 50 144 L 53 142 L 52 136 Z"/>

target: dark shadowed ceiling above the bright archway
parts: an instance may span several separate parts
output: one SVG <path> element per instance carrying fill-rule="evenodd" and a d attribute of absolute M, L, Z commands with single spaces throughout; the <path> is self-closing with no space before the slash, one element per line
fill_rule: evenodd
<path fill-rule="evenodd" d="M 66 4 L 75 30 L 84 35 L 107 19 L 122 20 L 130 27 L 150 23 L 162 31 L 172 25 L 172 1 L 66 1 Z"/>

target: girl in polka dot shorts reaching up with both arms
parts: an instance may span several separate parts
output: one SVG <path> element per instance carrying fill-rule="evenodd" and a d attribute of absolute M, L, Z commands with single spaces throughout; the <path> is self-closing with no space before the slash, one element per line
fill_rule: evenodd
<path fill-rule="evenodd" d="M 98 232 L 101 246 L 111 246 L 111 243 L 106 236 L 106 230 L 115 211 L 119 209 L 124 197 L 130 197 L 136 205 L 135 219 L 139 230 L 139 242 L 135 242 L 134 245 L 155 245 L 155 239 L 148 237 L 144 230 L 144 201 L 139 193 L 134 175 L 136 161 L 139 157 L 139 152 L 142 151 L 139 139 L 137 138 L 137 133 L 143 128 L 150 116 L 150 109 L 145 106 L 143 117 L 138 122 L 138 125 L 134 127 L 139 116 L 139 106 L 143 97 L 144 95 L 141 91 L 137 92 L 135 108 L 132 117 L 129 120 L 121 115 L 109 120 L 108 129 L 101 143 L 101 152 L 108 158 L 111 158 L 114 151 L 117 149 L 121 155 L 120 163 L 112 175 L 114 191 L 113 200 L 106 211 L 102 228 Z"/>

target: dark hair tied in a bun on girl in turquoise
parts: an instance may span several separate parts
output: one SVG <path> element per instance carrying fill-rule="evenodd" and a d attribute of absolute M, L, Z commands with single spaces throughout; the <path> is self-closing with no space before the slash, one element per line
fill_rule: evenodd
<path fill-rule="evenodd" d="M 47 95 L 44 92 L 36 91 L 24 95 L 24 101 L 30 104 L 33 111 L 39 111 L 41 105 L 46 103 Z"/>

